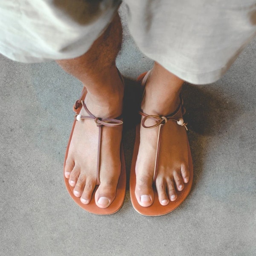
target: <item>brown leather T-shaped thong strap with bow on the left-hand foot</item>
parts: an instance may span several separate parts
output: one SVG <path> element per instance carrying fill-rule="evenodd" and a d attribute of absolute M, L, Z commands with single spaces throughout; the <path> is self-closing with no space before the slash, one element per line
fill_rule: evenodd
<path fill-rule="evenodd" d="M 100 169 L 100 153 L 101 153 L 101 144 L 102 144 L 102 127 L 103 126 L 109 126 L 109 127 L 114 127 L 117 125 L 122 125 L 122 116 L 118 116 L 116 118 L 100 118 L 94 116 L 90 111 L 87 109 L 84 101 L 82 100 L 84 98 L 84 94 L 87 93 L 86 88 L 84 87 L 84 90 L 81 93 L 81 97 L 79 100 L 76 101 L 74 105 L 74 111 L 76 112 L 76 120 L 81 121 L 82 119 L 91 119 L 93 120 L 97 127 L 99 127 L 99 139 L 98 139 L 98 156 L 97 156 L 97 185 L 99 185 L 100 180 L 99 180 L 99 169 Z M 82 116 L 81 114 L 78 114 L 81 111 L 81 108 L 84 108 L 84 110 L 88 113 L 88 116 Z"/>

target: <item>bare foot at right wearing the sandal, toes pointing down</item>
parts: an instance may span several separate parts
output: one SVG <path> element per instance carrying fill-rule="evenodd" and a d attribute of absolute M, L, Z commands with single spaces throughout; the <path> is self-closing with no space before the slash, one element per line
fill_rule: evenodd
<path fill-rule="evenodd" d="M 142 111 L 148 115 L 167 116 L 173 113 L 179 103 L 180 91 L 158 93 L 154 79 L 148 79 L 145 87 L 145 95 L 142 102 Z M 161 95 L 160 95 L 161 94 Z M 143 117 L 142 117 L 143 118 Z M 146 125 L 154 125 L 152 119 L 146 121 Z M 182 191 L 184 183 L 189 181 L 188 148 L 186 130 L 177 125 L 177 122 L 168 120 L 163 125 L 159 162 L 156 177 L 156 189 L 161 205 L 169 204 L 169 201 L 177 199 L 177 191 Z M 136 162 L 136 189 L 135 195 L 138 203 L 143 207 L 150 206 L 154 200 L 152 188 L 154 166 L 157 151 L 158 127 L 148 129 L 141 125 L 140 147 Z"/>

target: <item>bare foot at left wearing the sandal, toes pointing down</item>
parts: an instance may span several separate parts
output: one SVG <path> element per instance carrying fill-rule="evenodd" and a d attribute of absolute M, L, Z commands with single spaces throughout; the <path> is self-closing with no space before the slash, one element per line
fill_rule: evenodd
<path fill-rule="evenodd" d="M 94 116 L 100 118 L 116 118 L 122 114 L 123 84 L 117 81 L 120 90 L 103 97 L 95 97 L 89 92 L 85 97 L 85 104 Z M 88 116 L 82 108 L 81 115 Z M 96 186 L 96 169 L 98 155 L 99 128 L 90 119 L 81 119 L 76 123 L 70 142 L 65 165 L 65 177 L 69 179 L 73 193 L 80 197 L 83 204 L 89 204 Z M 96 205 L 100 208 L 108 207 L 116 196 L 121 162 L 120 143 L 122 125 L 116 127 L 102 127 L 102 148 L 100 164 L 100 185 L 95 194 Z"/>

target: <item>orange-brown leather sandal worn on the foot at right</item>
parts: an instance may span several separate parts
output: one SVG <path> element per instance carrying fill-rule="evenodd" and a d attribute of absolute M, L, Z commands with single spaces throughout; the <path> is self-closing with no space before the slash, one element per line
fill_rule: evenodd
<path fill-rule="evenodd" d="M 137 81 L 141 83 L 141 85 L 145 88 L 145 84 L 151 74 L 151 70 L 148 72 L 145 72 L 141 74 Z M 145 90 L 144 90 L 145 93 Z M 143 97 L 144 97 L 143 93 Z M 142 98 L 143 98 L 142 97 Z M 134 144 L 134 153 L 132 158 L 132 164 L 131 164 L 131 175 L 130 175 L 130 193 L 131 193 L 131 202 L 133 204 L 134 209 L 139 212 L 142 215 L 147 216 L 159 216 L 159 215 L 165 215 L 169 212 L 172 212 L 174 209 L 180 206 L 180 204 L 186 199 L 186 197 L 189 195 L 189 192 L 192 187 L 192 180 L 193 180 L 193 165 L 192 165 L 192 156 L 191 151 L 189 147 L 189 141 L 187 138 L 186 133 L 186 140 L 187 140 L 187 148 L 188 148 L 188 163 L 189 163 L 189 182 L 184 183 L 184 188 L 182 191 L 177 191 L 177 199 L 175 201 L 169 201 L 169 204 L 166 206 L 163 206 L 160 204 L 158 200 L 157 195 L 157 189 L 155 187 L 155 181 L 157 178 L 157 168 L 158 168 L 158 162 L 159 162 L 159 154 L 161 149 L 161 140 L 162 140 L 162 131 L 163 129 L 170 129 L 168 126 L 168 123 L 175 122 L 177 125 L 180 125 L 181 129 L 186 129 L 187 131 L 187 123 L 183 121 L 183 114 L 185 113 L 185 109 L 183 108 L 183 100 L 180 97 L 180 105 L 175 110 L 175 112 L 171 113 L 168 116 L 157 116 L 157 115 L 148 115 L 143 113 L 142 111 L 139 112 L 141 116 L 143 116 L 143 119 L 141 121 L 141 124 L 138 124 L 136 127 L 136 139 Z M 151 119 L 155 121 L 154 125 L 146 126 L 145 121 L 147 119 Z M 140 125 L 142 125 L 144 128 L 148 129 L 158 129 L 158 140 L 157 140 L 157 150 L 156 150 L 156 158 L 155 158 L 155 166 L 154 166 L 154 177 L 152 180 L 152 187 L 154 190 L 154 201 L 151 204 L 151 206 L 148 207 L 142 207 L 137 202 L 137 198 L 135 196 L 135 186 L 136 186 L 136 174 L 135 174 L 135 165 L 137 161 L 137 155 L 139 151 L 139 145 L 140 145 Z M 170 130 L 170 132 L 172 132 Z"/>

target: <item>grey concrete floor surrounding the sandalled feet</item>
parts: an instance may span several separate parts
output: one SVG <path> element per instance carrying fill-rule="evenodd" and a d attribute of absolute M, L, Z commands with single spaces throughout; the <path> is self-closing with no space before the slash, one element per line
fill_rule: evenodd
<path fill-rule="evenodd" d="M 131 79 L 152 61 L 124 22 L 117 59 Z M 0 56 L 0 255 L 255 256 L 256 40 L 214 84 L 185 84 L 192 192 L 174 212 L 139 215 L 127 191 L 114 215 L 85 212 L 68 195 L 63 161 L 81 84 L 54 62 Z M 135 130 L 125 130 L 126 167 Z"/>

